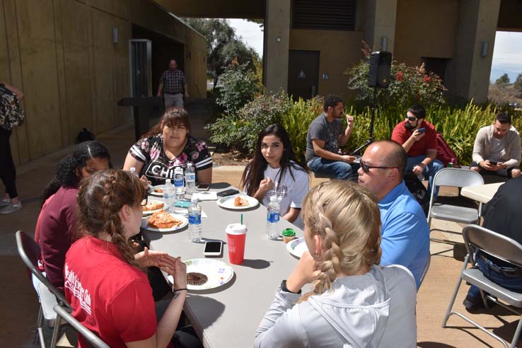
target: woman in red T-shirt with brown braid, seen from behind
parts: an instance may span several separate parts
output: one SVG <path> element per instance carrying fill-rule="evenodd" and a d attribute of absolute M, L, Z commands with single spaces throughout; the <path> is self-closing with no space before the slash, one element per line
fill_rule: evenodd
<path fill-rule="evenodd" d="M 187 296 L 187 267 L 180 257 L 135 255 L 129 238 L 139 233 L 141 180 L 124 170 L 103 170 L 84 180 L 78 195 L 81 238 L 65 260 L 65 295 L 74 317 L 110 347 L 170 347 Z M 174 277 L 174 295 L 156 323 L 152 289 L 144 267 Z M 187 337 L 185 337 L 187 338 Z M 199 345 L 175 342 L 177 347 Z M 195 342 L 194 342 L 195 340 Z M 79 339 L 79 347 L 86 347 Z"/>

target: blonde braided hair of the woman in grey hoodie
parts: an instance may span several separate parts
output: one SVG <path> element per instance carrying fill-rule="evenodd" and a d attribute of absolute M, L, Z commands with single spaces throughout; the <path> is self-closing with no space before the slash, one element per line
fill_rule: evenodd
<path fill-rule="evenodd" d="M 357 274 L 381 262 L 381 214 L 366 188 L 340 180 L 323 182 L 308 192 L 302 213 L 308 233 L 323 238 L 325 253 L 313 290 L 300 302 L 331 290 L 338 274 Z"/>

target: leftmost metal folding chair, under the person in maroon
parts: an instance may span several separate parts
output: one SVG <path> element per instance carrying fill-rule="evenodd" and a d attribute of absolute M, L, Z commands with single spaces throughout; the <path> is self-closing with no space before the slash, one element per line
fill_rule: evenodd
<path fill-rule="evenodd" d="M 23 263 L 30 269 L 31 273 L 40 281 L 37 285 L 38 301 L 40 301 L 40 310 L 37 317 L 37 333 L 40 340 L 40 346 L 45 348 L 45 338 L 43 333 L 43 324 L 47 327 L 53 327 L 51 348 L 56 347 L 59 337 L 59 327 L 62 325 L 61 320 L 57 318 L 54 306 L 69 306 L 64 294 L 56 289 L 49 280 L 38 269 L 38 260 L 40 259 L 40 246 L 35 240 L 23 231 L 16 232 L 16 246 L 18 254 L 22 258 Z"/>

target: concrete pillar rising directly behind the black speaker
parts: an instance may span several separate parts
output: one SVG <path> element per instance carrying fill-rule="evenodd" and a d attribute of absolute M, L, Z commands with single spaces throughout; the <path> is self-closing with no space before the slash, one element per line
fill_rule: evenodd
<path fill-rule="evenodd" d="M 393 53 L 397 0 L 366 0 L 361 5 L 363 40 L 372 51 Z"/>

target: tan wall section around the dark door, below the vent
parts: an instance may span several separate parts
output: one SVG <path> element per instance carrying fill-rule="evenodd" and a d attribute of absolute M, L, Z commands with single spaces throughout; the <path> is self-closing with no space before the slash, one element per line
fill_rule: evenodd
<path fill-rule="evenodd" d="M 362 33 L 359 31 L 290 30 L 290 50 L 319 51 L 318 94 L 349 96 L 344 71 L 362 59 Z M 328 79 L 323 80 L 323 74 Z"/>

